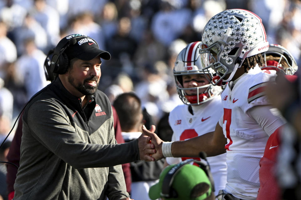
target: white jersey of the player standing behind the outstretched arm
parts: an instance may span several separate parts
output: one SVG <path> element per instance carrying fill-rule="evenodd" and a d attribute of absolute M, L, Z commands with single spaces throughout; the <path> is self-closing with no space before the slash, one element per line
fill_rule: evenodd
<path fill-rule="evenodd" d="M 192 115 L 188 111 L 188 106 L 183 104 L 174 108 L 169 114 L 169 124 L 172 127 L 172 141 L 187 140 L 215 130 L 215 126 L 222 115 L 222 105 L 220 96 L 215 96 L 212 100 L 199 106 L 195 106 Z M 166 158 L 168 164 L 179 163 L 188 158 Z M 200 160 L 200 158 L 194 158 Z M 215 184 L 217 195 L 220 189 L 226 184 L 226 153 L 207 158 Z"/>

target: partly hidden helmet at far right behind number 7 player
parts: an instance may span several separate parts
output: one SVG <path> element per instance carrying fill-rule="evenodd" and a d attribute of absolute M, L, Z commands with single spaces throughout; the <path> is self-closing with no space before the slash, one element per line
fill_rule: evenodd
<path fill-rule="evenodd" d="M 293 75 L 298 70 L 297 62 L 293 55 L 283 46 L 279 44 L 270 44 L 269 49 L 262 53 L 265 60 L 265 66 L 261 69 L 280 70 L 287 75 Z M 267 60 L 267 56 L 279 58 L 277 60 Z M 285 62 L 287 66 L 282 66 L 281 61 Z"/>

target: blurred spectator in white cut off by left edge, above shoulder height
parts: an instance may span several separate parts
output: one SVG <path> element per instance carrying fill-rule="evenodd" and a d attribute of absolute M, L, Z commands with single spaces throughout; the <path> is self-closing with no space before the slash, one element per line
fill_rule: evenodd
<path fill-rule="evenodd" d="M 0 78 L 5 79 L 6 63 L 12 63 L 17 59 L 17 50 L 15 44 L 6 36 L 7 24 L 0 21 Z"/>

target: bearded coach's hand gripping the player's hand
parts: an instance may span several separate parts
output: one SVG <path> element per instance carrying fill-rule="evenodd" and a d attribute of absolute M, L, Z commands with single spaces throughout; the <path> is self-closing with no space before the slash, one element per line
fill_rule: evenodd
<path fill-rule="evenodd" d="M 155 161 L 155 158 L 151 157 L 153 153 L 156 153 L 155 145 L 150 142 L 150 139 L 151 137 L 143 133 L 138 138 L 140 160 Z"/>

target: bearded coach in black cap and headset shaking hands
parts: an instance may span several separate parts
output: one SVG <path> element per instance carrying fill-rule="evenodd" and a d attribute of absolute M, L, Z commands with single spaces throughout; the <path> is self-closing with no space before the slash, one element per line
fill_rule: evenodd
<path fill-rule="evenodd" d="M 57 44 L 55 80 L 24 109 L 15 200 L 130 199 L 120 164 L 151 160 L 154 150 L 143 135 L 116 143 L 111 104 L 98 90 L 101 59 L 110 58 L 82 34 Z"/>

